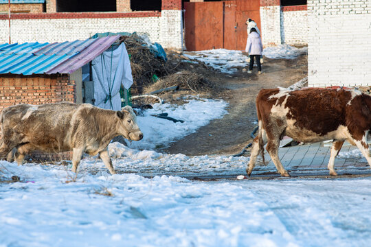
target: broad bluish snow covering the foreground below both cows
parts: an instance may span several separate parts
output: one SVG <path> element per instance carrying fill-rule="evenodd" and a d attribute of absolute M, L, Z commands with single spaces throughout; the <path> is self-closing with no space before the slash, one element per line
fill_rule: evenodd
<path fill-rule="evenodd" d="M 0 185 L 0 246 L 368 246 L 371 241 L 370 179 L 205 183 L 86 169 L 75 178 L 63 165 L 0 161 L 0 166 L 3 176 L 21 177 Z"/>

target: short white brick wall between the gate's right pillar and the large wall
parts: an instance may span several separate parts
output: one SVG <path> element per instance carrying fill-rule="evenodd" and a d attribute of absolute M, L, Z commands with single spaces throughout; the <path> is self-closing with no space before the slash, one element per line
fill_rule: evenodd
<path fill-rule="evenodd" d="M 289 45 L 308 44 L 308 15 L 306 10 L 281 12 L 281 42 Z"/>

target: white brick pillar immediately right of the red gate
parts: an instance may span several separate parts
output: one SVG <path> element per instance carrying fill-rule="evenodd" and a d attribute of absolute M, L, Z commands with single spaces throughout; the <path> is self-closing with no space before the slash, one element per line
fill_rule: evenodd
<path fill-rule="evenodd" d="M 278 6 L 260 7 L 263 46 L 281 44 L 281 8 Z"/>

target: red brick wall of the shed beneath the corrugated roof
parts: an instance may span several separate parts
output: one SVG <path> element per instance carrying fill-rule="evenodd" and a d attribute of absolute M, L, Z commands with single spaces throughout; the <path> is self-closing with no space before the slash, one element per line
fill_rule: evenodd
<path fill-rule="evenodd" d="M 76 102 L 69 75 L 0 75 L 0 112 L 15 104 Z"/>

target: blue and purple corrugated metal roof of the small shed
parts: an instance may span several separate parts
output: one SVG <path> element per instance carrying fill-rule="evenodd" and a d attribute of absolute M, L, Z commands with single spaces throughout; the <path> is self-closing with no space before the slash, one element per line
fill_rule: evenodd
<path fill-rule="evenodd" d="M 73 73 L 111 47 L 119 37 L 52 44 L 0 44 L 0 74 Z"/>

